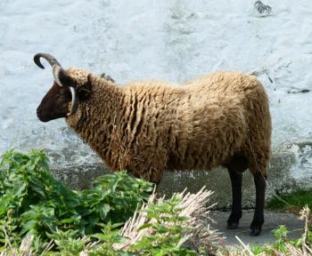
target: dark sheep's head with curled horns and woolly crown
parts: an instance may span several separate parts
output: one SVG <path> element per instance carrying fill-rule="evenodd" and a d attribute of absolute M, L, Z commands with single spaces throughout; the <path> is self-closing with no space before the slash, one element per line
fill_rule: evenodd
<path fill-rule="evenodd" d="M 78 111 L 79 100 L 86 100 L 91 92 L 91 74 L 88 76 L 86 70 L 79 68 L 64 70 L 52 55 L 46 53 L 37 53 L 34 57 L 39 68 L 45 68 L 40 58 L 52 66 L 54 83 L 37 108 L 39 120 L 48 122 L 74 115 Z"/>

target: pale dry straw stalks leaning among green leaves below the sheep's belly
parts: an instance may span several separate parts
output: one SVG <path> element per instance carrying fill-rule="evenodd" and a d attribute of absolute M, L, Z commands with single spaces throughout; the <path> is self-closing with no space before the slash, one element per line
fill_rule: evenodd
<path fill-rule="evenodd" d="M 179 213 L 180 217 L 186 217 L 187 221 L 184 225 L 193 227 L 185 235 L 185 239 L 189 241 L 193 249 L 198 252 L 200 247 L 205 248 L 207 252 L 211 251 L 211 248 L 217 246 L 220 238 L 217 230 L 212 230 L 207 226 L 207 220 L 209 219 L 208 209 L 206 207 L 208 197 L 212 195 L 212 191 L 201 188 L 196 194 L 186 193 L 185 191 L 174 196 L 182 198 L 181 202 L 177 205 L 177 208 L 183 208 L 183 211 Z M 152 234 L 151 228 L 140 229 L 143 225 L 154 222 L 156 220 L 149 220 L 146 218 L 146 208 L 149 204 L 162 204 L 164 197 L 156 198 L 156 194 L 152 193 L 147 204 L 142 206 L 142 209 L 135 212 L 134 216 L 127 220 L 124 228 L 121 230 L 120 235 L 127 237 L 125 244 L 115 244 L 116 249 L 126 250 L 127 248 L 135 244 L 144 236 Z M 181 223 L 182 224 L 182 223 Z"/>

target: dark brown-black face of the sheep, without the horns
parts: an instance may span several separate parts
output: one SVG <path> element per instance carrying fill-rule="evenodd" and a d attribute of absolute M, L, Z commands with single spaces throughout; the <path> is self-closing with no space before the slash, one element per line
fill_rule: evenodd
<path fill-rule="evenodd" d="M 69 87 L 54 83 L 37 108 L 39 120 L 48 122 L 53 119 L 66 117 L 69 113 L 70 101 L 71 94 Z"/>

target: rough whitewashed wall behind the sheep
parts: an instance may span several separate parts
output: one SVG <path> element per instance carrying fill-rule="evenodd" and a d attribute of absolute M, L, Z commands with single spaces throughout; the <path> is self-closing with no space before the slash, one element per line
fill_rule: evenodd
<path fill-rule="evenodd" d="M 105 72 L 119 83 L 153 77 L 183 82 L 212 70 L 241 70 L 258 74 L 270 99 L 269 190 L 288 189 L 294 182 L 311 186 L 312 2 L 264 1 L 271 9 L 259 4 L 257 9 L 255 2 L 1 1 L 0 153 L 45 148 L 62 177 L 66 170 L 78 170 L 82 180 L 99 163 L 63 120 L 37 120 L 52 74 L 35 67 L 36 52 L 52 53 L 64 67 Z M 198 175 L 168 173 L 161 186 L 167 191 L 166 182 L 172 187 L 174 179 L 177 189 L 200 188 L 199 180 L 201 185 L 207 180 L 209 188 L 220 188 L 217 200 L 225 202 L 226 172 Z M 245 189 L 246 198 L 250 193 Z"/>

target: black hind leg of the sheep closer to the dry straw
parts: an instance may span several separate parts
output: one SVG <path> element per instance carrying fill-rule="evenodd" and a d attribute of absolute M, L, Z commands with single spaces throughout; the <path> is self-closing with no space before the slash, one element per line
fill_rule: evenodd
<path fill-rule="evenodd" d="M 242 173 L 236 173 L 230 167 L 227 168 L 232 184 L 232 212 L 227 220 L 227 228 L 238 228 L 242 218 Z"/>

